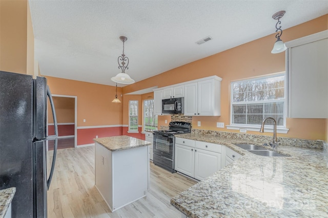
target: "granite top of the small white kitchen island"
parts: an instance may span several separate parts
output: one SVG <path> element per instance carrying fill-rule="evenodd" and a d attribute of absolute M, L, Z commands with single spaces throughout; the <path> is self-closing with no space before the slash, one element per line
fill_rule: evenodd
<path fill-rule="evenodd" d="M 147 142 L 145 140 L 133 138 L 130 136 L 112 136 L 112 137 L 105 137 L 105 138 L 97 138 L 93 139 L 100 145 L 103 145 L 110 151 L 117 151 L 117 150 L 126 150 L 135 147 L 142 147 L 151 145 L 151 142 Z"/>

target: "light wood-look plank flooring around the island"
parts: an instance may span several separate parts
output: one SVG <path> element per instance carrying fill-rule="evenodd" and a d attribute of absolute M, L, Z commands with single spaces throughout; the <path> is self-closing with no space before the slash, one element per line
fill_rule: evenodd
<path fill-rule="evenodd" d="M 48 171 L 52 155 L 48 151 Z M 48 191 L 48 217 L 181 217 L 170 199 L 194 184 L 151 162 L 147 196 L 112 213 L 94 186 L 94 146 L 60 149 Z"/>

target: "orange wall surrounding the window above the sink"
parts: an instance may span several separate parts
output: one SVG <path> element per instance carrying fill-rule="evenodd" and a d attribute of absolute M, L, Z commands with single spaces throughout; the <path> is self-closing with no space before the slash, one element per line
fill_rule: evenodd
<path fill-rule="evenodd" d="M 304 24 L 283 30 L 281 39 L 290 41 L 306 35 L 324 31 L 328 27 L 328 15 L 310 20 Z M 193 128 L 228 130 L 227 128 L 216 128 L 216 122 L 230 124 L 230 83 L 234 80 L 257 77 L 285 71 L 285 53 L 271 54 L 275 34 L 245 43 L 241 46 L 217 53 L 184 66 L 175 68 L 154 77 L 125 86 L 123 93 L 134 92 L 157 85 L 158 87 L 172 85 L 202 77 L 217 75 L 223 80 L 221 82 L 221 116 L 218 117 L 193 117 Z M 160 82 L 159 82 L 160 81 Z M 124 118 L 127 116 L 123 114 Z M 164 120 L 168 116 L 159 116 L 158 125 L 168 125 Z M 197 121 L 201 126 L 197 127 Z M 288 134 L 278 134 L 281 137 L 321 139 L 325 140 L 328 135 L 326 119 L 287 119 L 286 127 L 290 128 Z M 259 134 L 258 132 L 248 132 Z M 272 135 L 265 133 L 265 135 Z"/>

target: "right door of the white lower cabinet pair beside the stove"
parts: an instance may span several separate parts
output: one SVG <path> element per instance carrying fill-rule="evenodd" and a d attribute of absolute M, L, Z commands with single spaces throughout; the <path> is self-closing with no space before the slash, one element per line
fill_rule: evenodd
<path fill-rule="evenodd" d="M 221 154 L 195 149 L 195 179 L 203 180 L 221 169 Z"/>

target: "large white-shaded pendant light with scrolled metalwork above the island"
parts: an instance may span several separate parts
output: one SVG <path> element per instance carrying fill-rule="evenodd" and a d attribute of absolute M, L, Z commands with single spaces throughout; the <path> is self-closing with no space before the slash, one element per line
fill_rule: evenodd
<path fill-rule="evenodd" d="M 120 36 L 119 39 L 123 42 L 123 53 L 121 56 L 119 56 L 117 58 L 117 62 L 118 62 L 118 68 L 121 69 L 121 73 L 117 74 L 116 76 L 112 77 L 111 80 L 114 81 L 114 82 L 117 82 L 117 83 L 122 83 L 122 84 L 132 84 L 134 83 L 134 80 L 131 79 L 131 77 L 125 73 L 125 70 L 126 69 L 129 69 L 128 68 L 128 65 L 129 65 L 129 58 L 125 56 L 124 54 L 124 42 L 126 42 L 128 40 L 127 37 L 125 36 Z M 122 61 L 122 62 L 120 62 Z M 125 62 L 127 61 L 127 62 Z M 125 64 L 127 64 L 125 66 Z M 117 84 L 116 84 L 117 86 Z"/>

